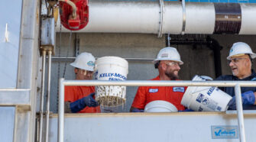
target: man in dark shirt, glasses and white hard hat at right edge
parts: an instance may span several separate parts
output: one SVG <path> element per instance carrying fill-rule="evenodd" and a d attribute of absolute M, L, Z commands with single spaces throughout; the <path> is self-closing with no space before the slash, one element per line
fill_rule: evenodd
<path fill-rule="evenodd" d="M 234 81 L 250 81 L 256 80 L 256 73 L 251 69 L 252 59 L 256 54 L 252 52 L 251 47 L 243 42 L 233 44 L 227 57 L 228 65 L 232 70 L 232 75 L 219 76 L 216 80 L 234 80 Z M 233 98 L 228 103 L 228 109 L 236 109 L 235 89 L 233 87 L 220 87 L 224 92 Z M 256 109 L 256 88 L 241 87 L 241 100 L 244 109 Z"/>

